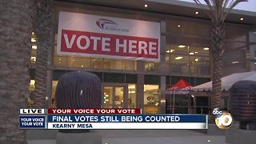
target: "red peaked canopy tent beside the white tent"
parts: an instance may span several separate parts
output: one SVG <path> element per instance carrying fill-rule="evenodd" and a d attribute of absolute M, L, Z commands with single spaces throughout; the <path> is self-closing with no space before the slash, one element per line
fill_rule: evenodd
<path fill-rule="evenodd" d="M 174 94 L 173 107 L 172 107 L 173 114 L 174 114 L 175 94 L 190 94 L 191 87 L 192 86 L 190 85 L 190 83 L 181 79 L 177 83 L 175 83 L 173 86 L 170 86 L 166 89 L 166 94 Z"/>

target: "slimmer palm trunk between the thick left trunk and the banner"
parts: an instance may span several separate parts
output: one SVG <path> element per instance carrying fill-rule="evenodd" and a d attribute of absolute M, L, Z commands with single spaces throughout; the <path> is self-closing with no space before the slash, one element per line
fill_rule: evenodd
<path fill-rule="evenodd" d="M 35 28 L 38 39 L 35 73 L 34 108 L 46 108 L 46 78 L 48 49 L 52 47 L 51 0 L 37 0 Z M 51 102 L 51 101 L 50 101 Z"/>

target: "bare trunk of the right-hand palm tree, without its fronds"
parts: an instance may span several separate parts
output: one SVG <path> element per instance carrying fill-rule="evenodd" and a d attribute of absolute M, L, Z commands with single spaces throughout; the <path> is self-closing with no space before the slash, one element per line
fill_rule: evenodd
<path fill-rule="evenodd" d="M 222 108 L 222 53 L 224 51 L 225 27 L 224 22 L 214 22 L 212 27 L 212 95 L 211 109 Z"/>

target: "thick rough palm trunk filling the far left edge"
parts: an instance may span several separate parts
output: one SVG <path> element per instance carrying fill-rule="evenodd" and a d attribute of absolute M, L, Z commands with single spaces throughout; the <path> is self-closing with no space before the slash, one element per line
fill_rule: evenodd
<path fill-rule="evenodd" d="M 27 143 L 18 126 L 29 97 L 32 3 L 0 1 L 0 143 Z"/>

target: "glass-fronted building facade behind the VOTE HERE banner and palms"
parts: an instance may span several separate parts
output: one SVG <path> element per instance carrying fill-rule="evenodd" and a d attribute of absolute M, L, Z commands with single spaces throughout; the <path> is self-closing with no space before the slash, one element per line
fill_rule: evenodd
<path fill-rule="evenodd" d="M 46 96 L 48 107 L 51 107 L 58 79 L 62 74 L 73 70 L 89 71 L 102 80 L 102 108 L 142 108 L 145 114 L 169 113 L 170 99 L 166 96 L 166 88 L 180 79 L 186 80 L 192 86 L 211 80 L 210 20 L 200 18 L 196 13 L 197 9 L 191 10 L 191 13 L 194 13 L 193 17 L 180 16 L 147 10 L 155 4 L 154 2 L 148 2 L 148 7 L 144 3 L 138 2 L 138 4 L 142 5 L 141 10 L 90 2 L 54 1 L 54 47 L 48 53 L 50 55 L 48 58 L 50 73 L 47 78 L 47 86 L 50 89 L 47 90 Z M 159 9 L 159 6 L 155 7 Z M 169 7 L 174 8 L 171 5 Z M 186 7 L 183 7 L 181 12 L 183 10 L 186 10 Z M 142 61 L 125 57 L 102 58 L 93 53 L 86 56 L 58 54 L 58 22 L 61 11 L 157 22 L 160 27 L 160 61 Z M 199 14 L 202 14 L 202 11 Z M 250 61 L 254 59 L 251 58 L 252 55 L 255 55 L 253 33 L 250 33 L 252 29 L 253 26 L 245 23 L 226 23 L 223 76 L 254 69 L 254 62 Z M 34 37 L 36 38 L 36 34 Z M 36 62 L 36 41 L 33 46 L 32 63 Z M 30 90 L 34 90 L 33 73 L 32 66 Z M 190 113 L 188 107 L 194 108 L 194 113 L 208 113 L 210 100 L 207 96 L 195 99 L 181 95 L 176 98 L 175 106 L 177 107 L 175 113 Z"/>

